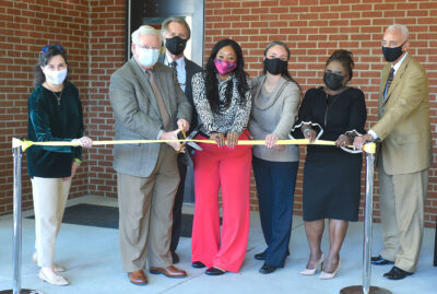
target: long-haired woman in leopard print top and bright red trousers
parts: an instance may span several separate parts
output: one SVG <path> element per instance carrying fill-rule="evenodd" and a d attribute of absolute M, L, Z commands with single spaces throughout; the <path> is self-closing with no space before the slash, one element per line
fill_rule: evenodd
<path fill-rule="evenodd" d="M 200 143 L 194 154 L 196 208 L 192 227 L 192 266 L 206 274 L 238 272 L 249 235 L 251 107 L 243 52 L 232 39 L 215 44 L 204 72 L 192 78 L 192 96 L 202 134 L 216 144 Z M 223 226 L 220 230 L 218 190 L 222 189 Z"/>

